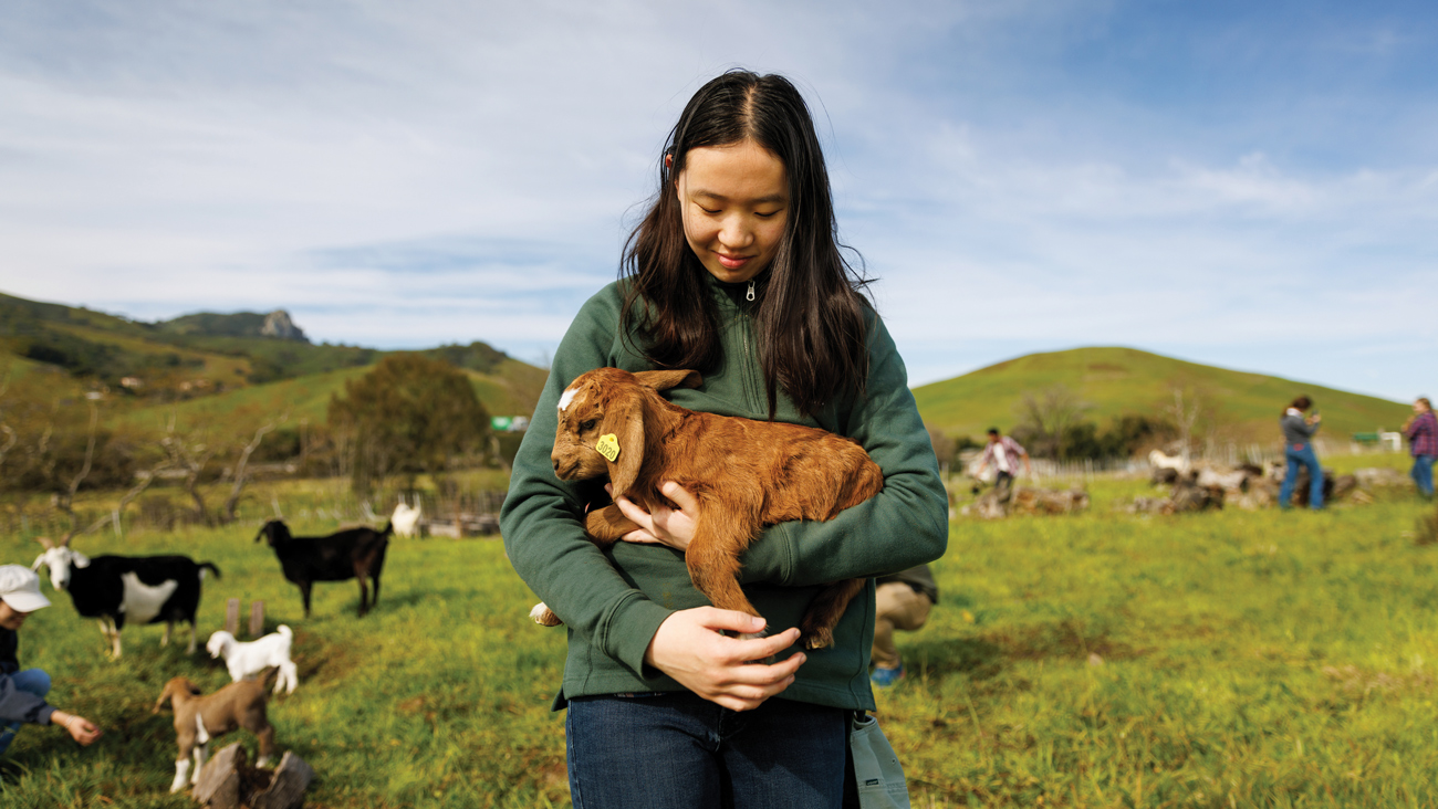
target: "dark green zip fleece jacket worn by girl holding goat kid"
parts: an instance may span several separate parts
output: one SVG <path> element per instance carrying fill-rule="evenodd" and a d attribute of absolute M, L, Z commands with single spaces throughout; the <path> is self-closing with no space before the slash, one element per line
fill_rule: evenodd
<path fill-rule="evenodd" d="M 756 279 L 762 299 L 765 277 Z M 664 546 L 620 542 L 600 550 L 584 536 L 584 506 L 603 497 L 603 481 L 567 483 L 554 476 L 549 453 L 558 401 L 577 376 L 594 368 L 649 371 L 633 351 L 637 338 L 620 333 L 623 282 L 591 297 L 554 356 L 549 381 L 515 458 L 500 514 L 505 549 L 519 576 L 564 619 L 569 652 L 555 708 L 568 697 L 679 691 L 677 681 L 644 664 L 659 625 L 674 611 L 706 606 L 689 581 L 683 553 Z M 755 353 L 754 308 L 748 285 L 710 279 L 719 312 L 723 362 L 697 389 L 673 389 L 674 404 L 696 411 L 768 418 L 764 378 Z M 943 555 L 948 499 L 903 361 L 877 315 L 869 313 L 870 372 L 866 395 L 853 394 L 801 415 L 779 395 L 777 420 L 847 435 L 884 473 L 884 489 L 828 522 L 769 527 L 745 553 L 741 583 L 771 632 L 798 625 L 804 608 L 828 582 L 894 573 Z M 536 628 L 538 631 L 544 631 Z M 834 629 L 834 647 L 808 652 L 782 695 L 843 708 L 873 708 L 869 648 L 874 631 L 874 585 L 856 598 Z M 797 647 L 781 655 L 788 657 Z"/>

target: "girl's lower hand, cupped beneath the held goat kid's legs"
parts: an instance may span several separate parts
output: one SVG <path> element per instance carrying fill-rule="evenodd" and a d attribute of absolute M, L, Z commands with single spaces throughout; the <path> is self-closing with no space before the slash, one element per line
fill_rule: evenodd
<path fill-rule="evenodd" d="M 710 703 L 748 711 L 788 688 L 807 660 L 798 652 L 775 664 L 749 662 L 794 645 L 800 639 L 797 628 L 748 641 L 728 638 L 719 629 L 761 632 L 764 618 L 715 606 L 682 609 L 659 625 L 644 651 L 644 662 Z"/>

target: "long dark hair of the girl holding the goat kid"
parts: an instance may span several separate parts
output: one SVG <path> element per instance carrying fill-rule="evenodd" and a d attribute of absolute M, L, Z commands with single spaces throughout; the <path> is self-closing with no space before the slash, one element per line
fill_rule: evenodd
<path fill-rule="evenodd" d="M 659 193 L 624 246 L 620 276 L 631 279 L 624 333 L 643 335 L 644 356 L 659 368 L 718 366 L 722 346 L 709 272 L 684 239 L 674 181 L 689 149 L 746 139 L 784 162 L 789 184 L 788 221 L 774 262 L 761 273 L 766 280 L 759 279 L 755 316 L 769 418 L 778 388 L 812 415 L 846 388 L 863 394 L 869 280 L 844 260 L 814 121 L 784 76 L 732 70 L 689 99 L 659 161 Z"/>

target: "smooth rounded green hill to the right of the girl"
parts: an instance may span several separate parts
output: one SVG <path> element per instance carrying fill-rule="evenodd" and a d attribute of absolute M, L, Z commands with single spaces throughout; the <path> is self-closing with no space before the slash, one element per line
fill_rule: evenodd
<path fill-rule="evenodd" d="M 1334 391 L 1264 374 L 1185 362 L 1132 348 L 1077 348 L 1031 353 L 963 376 L 915 388 L 923 420 L 948 435 L 979 438 L 989 427 L 1011 430 L 1024 394 L 1064 385 L 1090 405 L 1087 418 L 1107 424 L 1126 412 L 1163 417 L 1173 389 L 1198 397 L 1198 435 L 1212 430 L 1224 440 L 1270 443 L 1278 414 L 1293 397 L 1307 394 L 1323 412 L 1324 433 L 1346 440 L 1379 427 L 1395 430 L 1411 412 L 1388 399 Z"/>

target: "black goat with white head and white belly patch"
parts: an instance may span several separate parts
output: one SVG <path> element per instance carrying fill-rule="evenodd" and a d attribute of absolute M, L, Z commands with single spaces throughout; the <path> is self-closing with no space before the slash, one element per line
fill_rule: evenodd
<path fill-rule="evenodd" d="M 109 641 L 111 655 L 119 658 L 119 631 L 125 624 L 165 622 L 161 645 L 170 644 L 175 621 L 190 622 L 190 645 L 194 654 L 194 614 L 200 608 L 200 582 L 206 570 L 220 576 L 210 562 L 196 563 L 188 556 L 85 556 L 69 547 L 39 537 L 45 553 L 30 566 L 50 569 L 50 585 L 70 593 L 75 611 L 85 618 L 99 618 L 99 631 Z"/>

